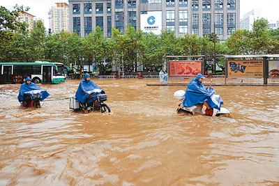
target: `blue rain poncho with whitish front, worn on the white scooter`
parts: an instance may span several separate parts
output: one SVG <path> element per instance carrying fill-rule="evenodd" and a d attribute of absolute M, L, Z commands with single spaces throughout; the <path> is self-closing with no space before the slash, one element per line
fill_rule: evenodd
<path fill-rule="evenodd" d="M 220 110 L 223 100 L 220 95 L 216 95 L 216 91 L 213 88 L 208 88 L 199 82 L 199 78 L 204 79 L 202 74 L 197 74 L 195 79 L 192 79 L 188 84 L 185 93 L 185 100 L 183 100 L 184 107 L 191 107 L 195 104 L 204 103 L 209 104 L 209 107 Z"/>

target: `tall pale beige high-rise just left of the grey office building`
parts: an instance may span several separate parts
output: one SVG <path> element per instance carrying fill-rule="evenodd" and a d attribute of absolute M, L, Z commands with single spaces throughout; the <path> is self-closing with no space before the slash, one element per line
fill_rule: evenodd
<path fill-rule="evenodd" d="M 50 22 L 50 31 L 59 33 L 69 31 L 69 6 L 67 3 L 56 3 L 48 13 Z"/>

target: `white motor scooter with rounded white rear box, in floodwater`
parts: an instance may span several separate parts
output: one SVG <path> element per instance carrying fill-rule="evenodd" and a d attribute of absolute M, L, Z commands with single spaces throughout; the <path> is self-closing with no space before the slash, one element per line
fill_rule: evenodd
<path fill-rule="evenodd" d="M 174 98 L 176 98 L 177 100 L 184 100 L 185 91 L 183 91 L 183 90 L 176 91 L 174 93 Z M 213 94 L 213 95 L 211 95 L 210 98 L 214 102 L 215 100 L 220 99 L 220 95 Z M 176 111 L 178 113 L 184 112 L 184 113 L 193 114 L 193 115 L 197 115 L 197 114 L 208 115 L 208 116 L 229 115 L 229 111 L 227 109 L 225 109 L 224 107 L 221 107 L 220 110 L 213 108 L 212 111 L 209 111 L 207 108 L 204 109 L 204 107 L 205 106 L 202 103 L 195 104 L 191 107 L 183 107 L 183 103 L 180 103 L 179 107 L 177 108 Z"/>

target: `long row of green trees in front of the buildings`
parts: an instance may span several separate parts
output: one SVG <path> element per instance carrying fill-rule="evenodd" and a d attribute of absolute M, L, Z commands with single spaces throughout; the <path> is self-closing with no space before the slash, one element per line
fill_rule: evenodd
<path fill-rule="evenodd" d="M 174 31 L 162 31 L 160 36 L 144 34 L 128 26 L 125 34 L 112 29 L 112 38 L 107 39 L 100 27 L 96 27 L 88 36 L 82 38 L 77 33 L 62 31 L 50 34 L 43 22 L 37 22 L 36 28 L 27 30 L 27 24 L 17 22 L 18 12 L 23 7 L 15 6 L 9 11 L 0 7 L 0 61 L 33 62 L 56 61 L 66 65 L 82 62 L 98 63 L 98 68 L 107 68 L 112 63 L 124 65 L 135 70 L 138 65 L 147 68 L 161 66 L 166 56 L 205 55 L 208 61 L 223 54 L 279 54 L 279 29 L 269 29 L 269 22 L 261 19 L 254 22 L 252 31 L 236 30 L 225 42 L 216 40 L 214 33 L 198 38 L 195 34 L 186 34 L 176 38 Z M 225 67 L 224 59 L 218 57 L 220 68 Z M 104 65 L 105 64 L 105 65 Z"/>

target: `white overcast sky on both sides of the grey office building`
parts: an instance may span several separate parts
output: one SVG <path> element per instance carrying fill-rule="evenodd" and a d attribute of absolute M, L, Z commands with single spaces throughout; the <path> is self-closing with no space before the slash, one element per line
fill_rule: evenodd
<path fill-rule="evenodd" d="M 1 0 L 0 5 L 5 6 L 8 9 L 13 9 L 13 6 L 18 5 L 29 6 L 28 13 L 41 18 L 45 22 L 45 28 L 49 29 L 48 12 L 52 6 L 56 6 L 55 3 L 63 3 L 68 1 L 63 0 Z M 269 22 L 275 22 L 279 20 L 279 0 L 240 0 L 240 17 L 248 13 L 252 9 L 260 9 L 262 11 L 262 17 L 269 20 Z"/>

